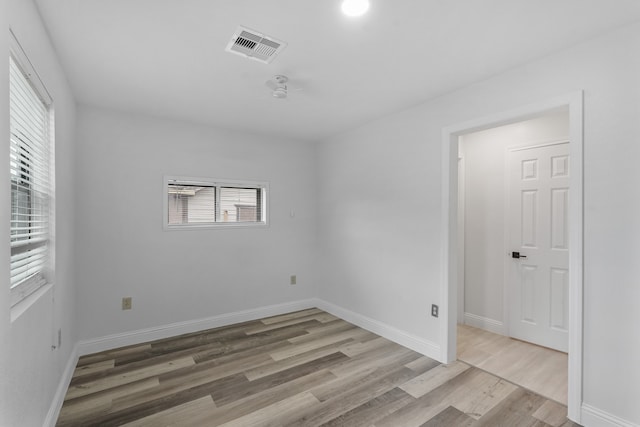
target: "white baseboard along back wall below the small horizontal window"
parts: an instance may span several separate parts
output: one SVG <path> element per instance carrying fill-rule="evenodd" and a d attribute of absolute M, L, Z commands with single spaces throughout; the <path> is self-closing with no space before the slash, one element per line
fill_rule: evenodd
<path fill-rule="evenodd" d="M 148 341 L 170 338 L 173 336 L 188 334 L 191 332 L 203 331 L 205 329 L 219 328 L 221 326 L 261 319 L 263 317 L 277 316 L 279 314 L 304 310 L 307 308 L 313 308 L 315 306 L 315 299 L 294 301 L 289 303 L 270 305 L 266 307 L 259 307 L 251 310 L 226 313 L 219 316 L 207 317 L 204 319 L 187 320 L 184 322 L 171 323 L 169 325 L 107 335 L 100 338 L 80 341 L 78 343 L 78 355 L 84 356 L 87 354 L 125 347 L 128 345 L 141 344 Z"/>

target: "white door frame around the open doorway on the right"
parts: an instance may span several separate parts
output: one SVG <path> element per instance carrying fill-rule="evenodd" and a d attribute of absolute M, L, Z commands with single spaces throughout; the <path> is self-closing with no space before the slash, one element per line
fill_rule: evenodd
<path fill-rule="evenodd" d="M 568 417 L 580 423 L 583 331 L 583 92 L 480 117 L 442 129 L 442 282 L 440 361 L 456 359 L 458 319 L 458 140 L 466 133 L 532 119 L 569 108 L 569 356 Z"/>

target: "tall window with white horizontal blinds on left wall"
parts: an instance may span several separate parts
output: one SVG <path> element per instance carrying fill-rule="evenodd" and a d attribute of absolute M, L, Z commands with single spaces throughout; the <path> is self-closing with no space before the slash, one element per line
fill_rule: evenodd
<path fill-rule="evenodd" d="M 51 100 L 46 90 L 40 88 L 43 86 L 24 53 L 12 49 L 9 56 L 12 306 L 46 284 L 50 276 L 52 112 Z"/>

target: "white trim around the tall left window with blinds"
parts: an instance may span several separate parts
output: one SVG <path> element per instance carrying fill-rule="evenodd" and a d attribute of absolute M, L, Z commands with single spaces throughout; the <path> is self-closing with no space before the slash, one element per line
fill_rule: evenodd
<path fill-rule="evenodd" d="M 53 236 L 55 234 L 55 216 L 54 216 L 54 203 L 55 203 L 55 163 L 53 161 L 53 156 L 55 155 L 55 114 L 53 107 L 53 99 L 49 92 L 47 91 L 40 75 L 36 72 L 33 64 L 27 57 L 26 53 L 22 49 L 20 42 L 16 38 L 15 34 L 11 29 L 9 29 L 10 37 L 9 37 L 9 59 L 13 61 L 17 69 L 20 73 L 22 73 L 23 77 L 27 81 L 27 84 L 31 86 L 35 95 L 40 99 L 44 107 L 46 108 L 47 114 L 47 144 L 46 152 L 48 154 L 48 162 L 47 164 L 47 189 L 46 189 L 46 197 L 47 197 L 47 235 L 42 239 L 34 239 L 28 242 L 22 242 L 19 244 L 11 245 L 11 257 L 14 255 L 19 255 L 20 253 L 24 253 L 30 250 L 36 250 L 40 247 L 45 247 L 45 256 L 46 260 L 42 266 L 42 268 L 35 274 L 30 277 L 27 277 L 19 282 L 17 282 L 13 287 L 10 286 L 10 305 L 13 310 L 17 307 L 21 302 L 27 300 L 31 295 L 35 294 L 39 289 L 43 288 L 45 285 L 51 285 L 54 282 L 54 245 L 53 245 Z M 9 121 L 11 121 L 11 116 Z M 9 134 L 11 138 L 11 133 Z M 10 143 L 11 144 L 11 143 Z M 11 192 L 11 197 L 13 197 L 13 191 Z M 29 193 L 29 197 L 31 194 Z M 13 201 L 11 202 L 11 204 Z M 10 263 L 10 269 L 12 269 L 13 264 Z"/>

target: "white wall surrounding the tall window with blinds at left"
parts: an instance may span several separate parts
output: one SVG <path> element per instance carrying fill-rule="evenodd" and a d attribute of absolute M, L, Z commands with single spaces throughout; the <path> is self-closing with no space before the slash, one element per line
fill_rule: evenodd
<path fill-rule="evenodd" d="M 76 341 L 74 285 L 74 178 L 75 178 L 75 101 L 62 68 L 49 42 L 38 11 L 31 0 L 1 2 L 2 40 L 0 49 L 8 52 L 8 27 L 14 31 L 36 71 L 51 93 L 55 108 L 56 141 L 56 239 L 55 283 L 26 311 L 16 318 L 9 309 L 9 228 L 2 227 L 7 244 L 0 245 L 0 363 L 3 367 L 3 394 L 0 395 L 0 425 L 41 426 Z M 6 8 L 6 10 L 5 10 Z M 6 18 L 5 18 L 6 17 Z M 7 21 L 4 21 L 7 19 Z M 7 68 L 0 67 L 0 98 L 8 99 Z M 0 130 L 8 135 L 8 102 L 0 103 Z M 8 176 L 8 144 L 0 176 Z M 9 185 L 0 185 L 0 199 L 9 200 Z M 3 203 L 2 206 L 8 206 Z M 9 209 L 2 209 L 0 223 L 8 224 Z M 53 297 L 55 295 L 55 302 Z M 28 298 L 29 300 L 29 298 Z M 33 300 L 33 298 L 31 298 Z M 11 315 L 15 318 L 11 320 Z M 62 329 L 62 346 L 52 350 L 55 331 Z"/>

